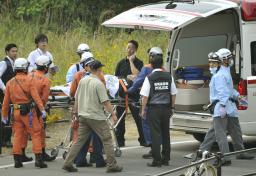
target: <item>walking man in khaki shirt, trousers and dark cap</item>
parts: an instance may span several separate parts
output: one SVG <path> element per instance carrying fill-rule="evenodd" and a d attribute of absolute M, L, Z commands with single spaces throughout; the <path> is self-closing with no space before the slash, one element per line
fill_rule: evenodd
<path fill-rule="evenodd" d="M 68 172 L 77 172 L 72 163 L 92 130 L 103 142 L 107 156 L 107 172 L 122 171 L 122 167 L 116 163 L 112 137 L 103 110 L 104 106 L 111 113 L 113 122 L 116 123 L 117 117 L 108 99 L 106 88 L 99 79 L 99 76 L 102 75 L 102 66 L 99 61 L 92 62 L 90 76 L 83 78 L 78 85 L 75 95 L 75 113 L 79 120 L 78 140 L 71 146 L 64 162 L 63 169 Z"/>

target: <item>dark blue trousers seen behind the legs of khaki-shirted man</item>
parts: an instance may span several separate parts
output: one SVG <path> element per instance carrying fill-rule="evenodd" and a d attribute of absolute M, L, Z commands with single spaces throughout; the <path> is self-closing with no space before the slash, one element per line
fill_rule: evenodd
<path fill-rule="evenodd" d="M 96 167 L 101 166 L 105 163 L 104 158 L 103 158 L 103 153 L 102 153 L 102 151 L 103 151 L 102 142 L 101 142 L 99 136 L 95 132 L 92 132 L 89 139 L 85 142 L 85 144 L 83 145 L 83 147 L 77 154 L 75 161 L 74 161 L 75 164 L 80 165 L 84 162 L 87 162 L 86 155 L 87 155 L 87 152 L 89 149 L 91 139 L 92 139 L 92 145 L 93 145 L 93 153 L 91 155 L 91 158 L 93 158 L 93 160 L 95 161 Z"/>

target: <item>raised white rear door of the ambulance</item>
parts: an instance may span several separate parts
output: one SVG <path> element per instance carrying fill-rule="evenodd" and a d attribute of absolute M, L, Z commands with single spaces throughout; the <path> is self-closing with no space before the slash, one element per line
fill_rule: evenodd
<path fill-rule="evenodd" d="M 106 27 L 171 31 L 197 19 L 238 5 L 229 1 L 159 2 L 125 11 L 102 25 Z"/>

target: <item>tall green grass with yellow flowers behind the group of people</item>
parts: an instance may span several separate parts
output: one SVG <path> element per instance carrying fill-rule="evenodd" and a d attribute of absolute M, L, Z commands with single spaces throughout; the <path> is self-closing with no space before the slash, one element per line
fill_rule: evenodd
<path fill-rule="evenodd" d="M 53 85 L 65 83 L 65 75 L 72 63 L 79 61 L 76 48 L 80 43 L 87 43 L 91 47 L 95 58 L 103 62 L 106 74 L 113 74 L 117 62 L 125 57 L 126 45 L 131 39 L 139 42 L 137 56 L 148 62 L 147 50 L 153 46 L 160 46 L 164 51 L 168 46 L 167 32 L 134 31 L 131 34 L 120 29 L 101 28 L 98 34 L 88 32 L 86 25 L 70 29 L 65 33 L 55 30 L 45 30 L 42 26 L 23 23 L 18 20 L 1 17 L 0 19 L 0 57 L 3 58 L 4 47 L 7 43 L 16 43 L 19 47 L 19 57 L 26 58 L 35 49 L 34 37 L 39 33 L 45 33 L 49 38 L 49 51 L 53 54 L 54 62 L 60 71 L 53 78 Z"/>

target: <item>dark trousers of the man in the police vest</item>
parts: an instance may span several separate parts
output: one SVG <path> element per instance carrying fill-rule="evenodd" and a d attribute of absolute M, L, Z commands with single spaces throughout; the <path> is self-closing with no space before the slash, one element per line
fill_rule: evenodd
<path fill-rule="evenodd" d="M 169 161 L 170 145 L 170 115 L 169 106 L 149 106 L 148 118 L 152 138 L 153 162 Z M 162 143 L 162 155 L 160 154 Z"/>

